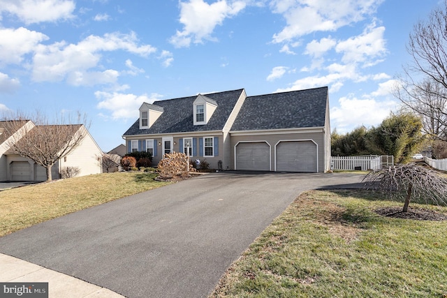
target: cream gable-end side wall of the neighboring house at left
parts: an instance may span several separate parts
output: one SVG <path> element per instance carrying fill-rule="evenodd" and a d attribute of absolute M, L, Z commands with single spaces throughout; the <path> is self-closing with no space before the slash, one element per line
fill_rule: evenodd
<path fill-rule="evenodd" d="M 84 127 L 80 129 L 85 129 Z M 87 132 L 87 130 L 85 130 Z M 89 174 L 99 174 L 102 172 L 101 158 L 103 152 L 99 149 L 98 144 L 93 140 L 87 132 L 82 142 L 71 151 L 66 158 L 59 160 L 59 167 L 79 167 L 78 176 L 86 176 Z"/>

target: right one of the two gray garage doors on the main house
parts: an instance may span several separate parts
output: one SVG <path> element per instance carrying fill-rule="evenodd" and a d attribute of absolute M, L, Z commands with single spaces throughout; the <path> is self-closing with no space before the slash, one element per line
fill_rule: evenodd
<path fill-rule="evenodd" d="M 277 171 L 318 172 L 316 144 L 311 141 L 280 142 L 276 147 Z"/>

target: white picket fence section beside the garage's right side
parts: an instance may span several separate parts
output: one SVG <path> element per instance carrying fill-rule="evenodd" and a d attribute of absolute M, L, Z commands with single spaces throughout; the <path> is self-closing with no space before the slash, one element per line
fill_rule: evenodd
<path fill-rule="evenodd" d="M 393 165 L 393 156 L 331 156 L 331 170 L 380 170 Z"/>

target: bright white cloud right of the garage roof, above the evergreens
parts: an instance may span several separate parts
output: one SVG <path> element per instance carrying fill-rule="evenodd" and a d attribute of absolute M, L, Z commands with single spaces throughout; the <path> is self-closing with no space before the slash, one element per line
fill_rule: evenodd
<path fill-rule="evenodd" d="M 377 126 L 389 116 L 390 111 L 397 109 L 393 100 L 376 100 L 367 96 L 365 99 L 353 95 L 339 98 L 339 106 L 330 109 L 332 126 L 337 127 L 338 133 L 348 133 L 354 128 Z"/>

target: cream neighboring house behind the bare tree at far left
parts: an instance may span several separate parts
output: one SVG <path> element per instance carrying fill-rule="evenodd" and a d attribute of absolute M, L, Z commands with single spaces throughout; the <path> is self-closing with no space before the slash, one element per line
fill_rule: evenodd
<path fill-rule="evenodd" d="M 23 126 L 17 131 L 6 131 L 8 126 L 5 126 L 4 122 L 0 121 L 0 132 L 3 131 L 0 135 L 0 181 L 45 181 L 47 178 L 45 167 L 14 154 L 7 144 L 8 140 L 17 139 L 25 127 L 28 131 L 37 132 L 46 126 L 36 126 L 32 121 L 24 121 Z M 78 167 L 80 169 L 78 176 L 101 173 L 101 161 L 98 161 L 98 156 L 102 155 L 102 151 L 85 126 L 78 127 L 78 130 L 84 131 L 85 137 L 75 149 L 53 165 L 52 179 L 59 179 L 60 170 L 64 167 Z"/>

